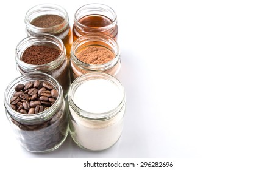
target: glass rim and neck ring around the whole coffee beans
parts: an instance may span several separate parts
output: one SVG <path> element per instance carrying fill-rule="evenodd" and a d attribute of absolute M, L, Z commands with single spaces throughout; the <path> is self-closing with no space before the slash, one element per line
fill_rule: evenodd
<path fill-rule="evenodd" d="M 55 87 L 55 89 L 59 92 L 58 97 L 54 104 L 52 104 L 51 107 L 49 107 L 47 110 L 44 110 L 43 112 L 40 112 L 38 114 L 21 114 L 20 112 L 16 112 L 15 110 L 10 107 L 10 99 L 13 97 L 13 93 L 15 92 L 15 87 L 18 84 L 26 84 L 29 81 L 49 81 L 52 83 L 52 85 Z M 58 81 L 52 77 L 51 75 L 48 75 L 46 73 L 41 72 L 32 72 L 32 73 L 26 73 L 24 75 L 21 75 L 20 77 L 15 78 L 13 81 L 9 83 L 7 88 L 5 89 L 4 93 L 4 106 L 7 112 L 10 113 L 10 117 L 15 119 L 16 121 L 19 121 L 22 124 L 32 124 L 35 120 L 37 121 L 44 121 L 47 118 L 51 117 L 55 114 L 55 110 L 58 109 L 58 103 L 63 98 L 63 91 L 62 86 L 58 83 Z"/>

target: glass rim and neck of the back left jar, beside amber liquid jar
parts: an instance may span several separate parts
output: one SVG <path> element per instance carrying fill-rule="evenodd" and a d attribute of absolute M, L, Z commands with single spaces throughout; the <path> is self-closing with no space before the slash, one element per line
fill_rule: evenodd
<path fill-rule="evenodd" d="M 47 27 L 47 28 L 37 27 L 31 24 L 31 22 L 38 16 L 51 15 L 51 14 L 59 15 L 64 20 L 60 24 L 54 25 L 52 27 Z M 33 32 L 58 34 L 60 32 L 63 32 L 63 30 L 65 30 L 68 27 L 69 17 L 66 10 L 63 7 L 60 7 L 59 5 L 40 4 L 40 5 L 35 5 L 34 7 L 32 7 L 27 11 L 24 22 L 26 24 L 27 31 L 32 35 L 34 34 Z"/>

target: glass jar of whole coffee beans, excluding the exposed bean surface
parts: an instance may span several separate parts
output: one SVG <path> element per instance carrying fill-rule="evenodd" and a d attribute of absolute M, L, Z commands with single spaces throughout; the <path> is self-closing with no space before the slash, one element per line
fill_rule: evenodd
<path fill-rule="evenodd" d="M 59 92 L 51 107 L 38 114 L 21 114 L 12 109 L 10 100 L 18 84 L 30 81 L 49 81 Z M 17 140 L 27 151 L 49 152 L 57 149 L 68 135 L 67 105 L 63 97 L 62 87 L 55 78 L 45 73 L 26 73 L 15 78 L 4 94 L 4 106 L 7 118 Z"/>

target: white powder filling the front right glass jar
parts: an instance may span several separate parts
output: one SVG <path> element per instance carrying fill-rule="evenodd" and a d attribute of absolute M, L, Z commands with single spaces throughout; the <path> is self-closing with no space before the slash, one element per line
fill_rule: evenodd
<path fill-rule="evenodd" d="M 115 109 L 122 102 L 123 93 L 112 81 L 98 78 L 80 84 L 74 92 L 73 101 L 80 109 L 97 115 Z M 80 117 L 70 106 L 69 110 L 71 137 L 80 147 L 93 151 L 104 150 L 115 144 L 121 136 L 126 104 L 115 116 L 106 120 L 90 120 Z"/>

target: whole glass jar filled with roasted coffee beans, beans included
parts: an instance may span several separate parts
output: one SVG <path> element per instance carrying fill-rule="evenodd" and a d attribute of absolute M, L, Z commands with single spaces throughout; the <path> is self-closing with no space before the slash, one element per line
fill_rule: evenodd
<path fill-rule="evenodd" d="M 40 91 L 43 87 L 52 97 L 51 104 L 46 101 L 49 105 L 40 99 L 47 98 L 42 97 L 47 94 Z M 5 89 L 4 106 L 16 139 L 27 151 L 53 151 L 65 141 L 69 130 L 67 104 L 62 87 L 50 75 L 34 72 L 15 78 Z"/>

